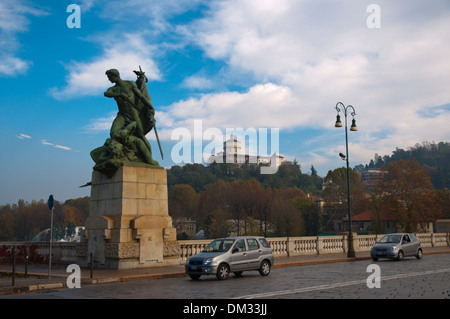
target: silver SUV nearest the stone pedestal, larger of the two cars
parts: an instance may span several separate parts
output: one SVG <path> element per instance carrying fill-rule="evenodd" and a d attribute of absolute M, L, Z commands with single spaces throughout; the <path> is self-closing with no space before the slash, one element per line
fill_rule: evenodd
<path fill-rule="evenodd" d="M 264 237 L 242 236 L 214 240 L 200 254 L 189 258 L 185 269 L 194 280 L 202 275 L 225 280 L 230 272 L 240 276 L 247 270 L 258 270 L 261 276 L 267 276 L 273 263 L 272 248 Z"/>

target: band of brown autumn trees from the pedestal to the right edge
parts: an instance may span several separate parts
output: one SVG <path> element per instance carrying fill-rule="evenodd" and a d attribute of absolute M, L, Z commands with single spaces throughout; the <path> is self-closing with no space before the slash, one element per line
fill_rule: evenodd
<path fill-rule="evenodd" d="M 210 238 L 228 236 L 231 232 L 285 237 L 335 231 L 333 222 L 348 215 L 346 168 L 330 170 L 324 178 L 323 190 L 316 195 L 307 195 L 296 186 L 294 181 L 301 175 L 299 167 L 285 168 L 280 174 L 290 174 L 289 178 L 283 177 L 287 187 L 276 184 L 265 187 L 256 178 L 239 179 L 232 172 L 225 175 L 228 180 L 218 179 L 199 192 L 192 185 L 171 185 L 170 214 L 175 220 L 195 217 L 198 229 L 203 229 Z M 361 175 L 355 170 L 350 169 L 349 176 L 352 215 L 373 211 L 373 232 L 384 233 L 388 217 L 394 217 L 397 227 L 408 232 L 419 231 L 428 221 L 450 218 L 449 191 L 436 190 L 426 168 L 414 159 L 391 162 L 382 169 L 378 183 L 372 188 L 361 182 Z M 318 205 L 321 200 L 325 203 L 323 210 Z"/>

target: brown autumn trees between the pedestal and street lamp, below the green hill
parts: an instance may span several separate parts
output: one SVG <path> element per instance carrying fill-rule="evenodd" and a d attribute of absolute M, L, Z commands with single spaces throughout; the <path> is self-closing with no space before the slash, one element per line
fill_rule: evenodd
<path fill-rule="evenodd" d="M 174 220 L 196 217 L 207 238 L 237 235 L 297 236 L 320 230 L 320 210 L 314 199 L 295 188 L 264 188 L 256 179 L 218 180 L 197 193 L 186 184 L 169 192 Z"/>

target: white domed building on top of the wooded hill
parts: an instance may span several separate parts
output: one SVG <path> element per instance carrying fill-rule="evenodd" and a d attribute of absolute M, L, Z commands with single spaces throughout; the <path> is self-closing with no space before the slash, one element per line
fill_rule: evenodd
<path fill-rule="evenodd" d="M 272 156 L 250 155 L 242 149 L 241 142 L 239 142 L 234 134 L 231 134 L 230 139 L 223 143 L 223 151 L 216 155 L 211 155 L 208 163 L 230 163 L 241 165 L 271 165 L 272 159 L 275 158 L 276 166 L 283 163 L 284 157 L 274 154 Z"/>

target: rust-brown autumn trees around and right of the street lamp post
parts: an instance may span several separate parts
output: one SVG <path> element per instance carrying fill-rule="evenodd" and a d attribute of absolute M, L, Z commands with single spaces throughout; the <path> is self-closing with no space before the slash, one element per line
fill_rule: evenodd
<path fill-rule="evenodd" d="M 347 216 L 346 169 L 330 171 L 324 179 L 323 196 L 333 218 Z M 405 232 L 425 229 L 427 222 L 450 218 L 450 191 L 436 189 L 426 167 L 416 159 L 391 162 L 380 169 L 378 182 L 367 188 L 359 173 L 350 169 L 352 214 L 372 211 L 373 232 L 384 233 L 386 220 L 396 220 Z"/>

